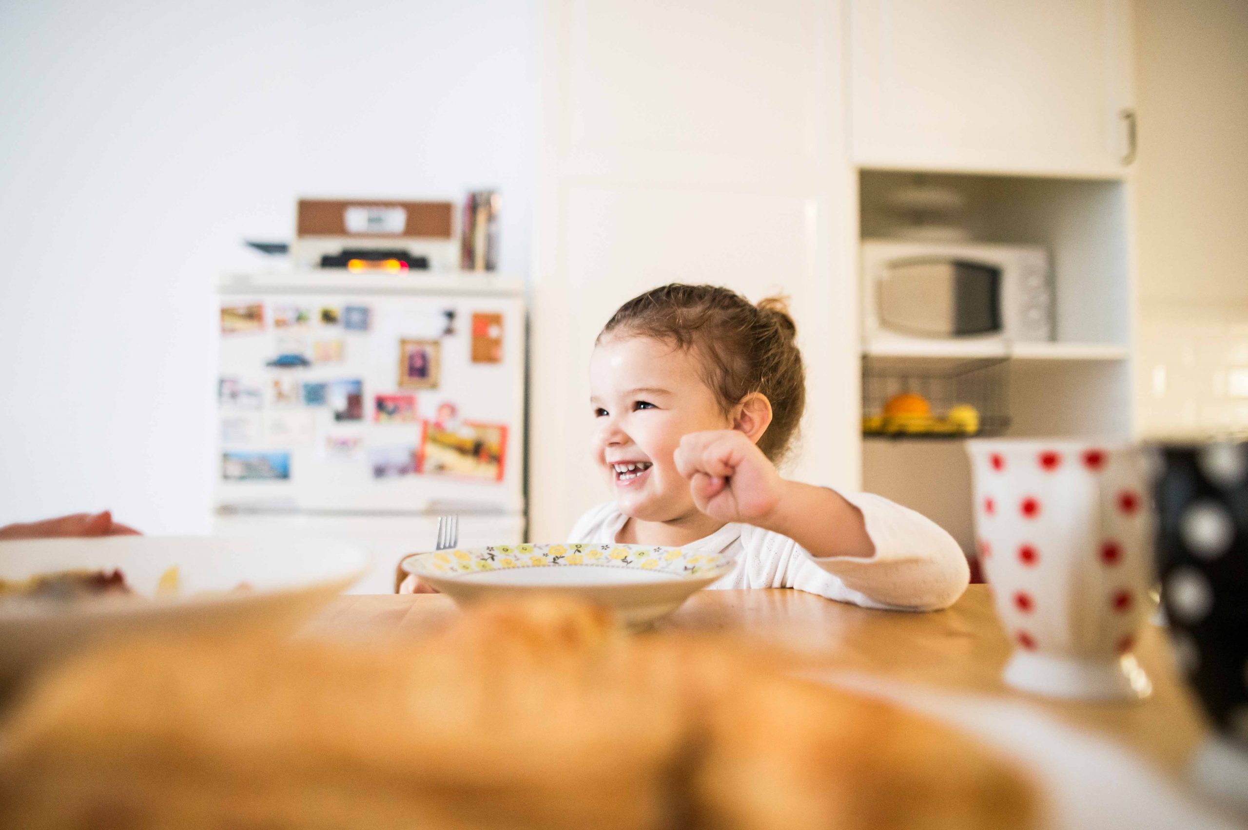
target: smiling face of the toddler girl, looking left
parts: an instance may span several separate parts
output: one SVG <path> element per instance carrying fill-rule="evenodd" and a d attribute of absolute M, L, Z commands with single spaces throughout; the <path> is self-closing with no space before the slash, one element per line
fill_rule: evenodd
<path fill-rule="evenodd" d="M 594 456 L 620 512 L 648 522 L 696 515 L 673 454 L 683 435 L 731 426 L 696 356 L 650 336 L 609 335 L 589 360 L 589 388 Z"/>

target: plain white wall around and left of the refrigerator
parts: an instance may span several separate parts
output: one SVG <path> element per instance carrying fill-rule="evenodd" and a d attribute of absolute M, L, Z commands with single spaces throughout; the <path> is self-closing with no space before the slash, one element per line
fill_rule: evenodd
<path fill-rule="evenodd" d="M 298 196 L 503 193 L 529 263 L 532 0 L 0 4 L 0 525 L 208 526 L 213 285 Z"/>

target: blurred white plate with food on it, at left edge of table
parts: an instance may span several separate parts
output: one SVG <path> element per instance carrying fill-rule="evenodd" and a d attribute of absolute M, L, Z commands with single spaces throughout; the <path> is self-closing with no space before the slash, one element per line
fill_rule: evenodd
<path fill-rule="evenodd" d="M 368 565 L 342 542 L 111 536 L 0 542 L 0 578 L 120 568 L 139 596 L 67 602 L 0 598 L 0 682 L 101 636 L 228 626 L 292 626 L 354 582 Z M 156 596 L 177 566 L 176 593 Z M 236 589 L 246 583 L 247 589 Z"/>

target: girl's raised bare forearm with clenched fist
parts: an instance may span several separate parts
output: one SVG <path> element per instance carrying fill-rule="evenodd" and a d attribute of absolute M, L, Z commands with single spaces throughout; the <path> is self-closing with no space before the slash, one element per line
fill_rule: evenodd
<path fill-rule="evenodd" d="M 875 553 L 857 507 L 835 490 L 781 479 L 744 432 L 685 435 L 675 461 L 694 503 L 708 516 L 787 536 L 816 557 Z"/>

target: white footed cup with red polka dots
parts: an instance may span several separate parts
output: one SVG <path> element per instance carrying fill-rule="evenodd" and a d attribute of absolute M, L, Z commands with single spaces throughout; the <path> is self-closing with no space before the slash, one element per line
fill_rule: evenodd
<path fill-rule="evenodd" d="M 1006 683 L 1060 698 L 1147 697 L 1132 656 L 1152 611 L 1143 451 L 983 439 L 967 452 L 980 563 L 1015 647 Z"/>

